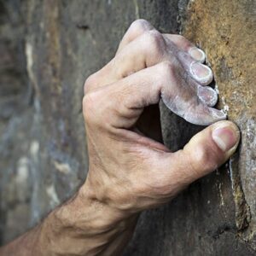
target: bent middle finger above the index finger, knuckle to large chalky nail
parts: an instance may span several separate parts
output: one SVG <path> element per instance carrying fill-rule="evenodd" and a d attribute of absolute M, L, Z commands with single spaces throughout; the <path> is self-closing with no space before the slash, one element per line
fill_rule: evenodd
<path fill-rule="evenodd" d="M 209 67 L 196 63 L 187 53 L 178 51 L 172 42 L 166 44 L 165 38 L 156 30 L 143 32 L 89 79 L 95 81 L 91 83 L 95 89 L 103 83 L 111 84 L 145 67 L 154 66 L 161 61 L 177 61 L 177 58 L 181 60 L 185 72 L 198 83 L 206 85 L 212 81 L 212 70 Z M 87 88 L 88 90 L 90 89 Z"/>

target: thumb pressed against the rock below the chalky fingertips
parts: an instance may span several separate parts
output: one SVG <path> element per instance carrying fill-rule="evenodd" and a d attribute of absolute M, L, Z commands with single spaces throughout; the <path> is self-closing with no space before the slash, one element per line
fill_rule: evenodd
<path fill-rule="evenodd" d="M 188 144 L 169 157 L 172 177 L 189 184 L 224 164 L 236 151 L 240 140 L 237 126 L 230 121 L 220 121 L 208 126 L 191 138 Z"/>

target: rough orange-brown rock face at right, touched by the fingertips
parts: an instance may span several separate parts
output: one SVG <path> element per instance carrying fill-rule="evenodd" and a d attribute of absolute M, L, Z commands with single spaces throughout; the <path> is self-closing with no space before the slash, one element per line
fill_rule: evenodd
<path fill-rule="evenodd" d="M 255 11 L 256 2 L 250 0 L 191 1 L 183 34 L 206 49 L 219 107 L 241 128 L 240 154 L 230 160 L 230 179 L 238 234 L 256 251 Z"/>

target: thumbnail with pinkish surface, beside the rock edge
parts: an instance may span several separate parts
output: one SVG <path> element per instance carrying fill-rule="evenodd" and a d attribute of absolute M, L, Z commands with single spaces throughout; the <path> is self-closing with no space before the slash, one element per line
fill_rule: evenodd
<path fill-rule="evenodd" d="M 223 124 L 220 124 L 212 131 L 212 139 L 218 145 L 218 148 L 226 152 L 236 145 L 239 139 L 239 131 L 230 125 L 223 126 Z"/>

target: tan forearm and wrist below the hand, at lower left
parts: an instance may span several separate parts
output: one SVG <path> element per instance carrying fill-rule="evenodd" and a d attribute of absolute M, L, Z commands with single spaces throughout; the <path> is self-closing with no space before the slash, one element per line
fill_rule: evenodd
<path fill-rule="evenodd" d="M 2 249 L 0 255 L 119 255 L 137 215 L 123 214 L 81 191 L 50 212 L 44 222 Z"/>

